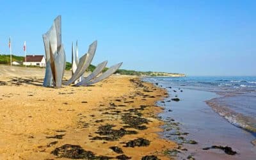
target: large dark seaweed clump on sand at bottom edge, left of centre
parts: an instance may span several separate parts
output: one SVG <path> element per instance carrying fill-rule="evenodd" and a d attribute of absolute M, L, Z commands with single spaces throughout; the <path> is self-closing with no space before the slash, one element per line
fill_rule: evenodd
<path fill-rule="evenodd" d="M 55 148 L 51 154 L 70 159 L 113 159 L 113 157 L 108 156 L 95 156 L 93 152 L 84 150 L 79 145 L 63 145 L 61 147 Z"/>

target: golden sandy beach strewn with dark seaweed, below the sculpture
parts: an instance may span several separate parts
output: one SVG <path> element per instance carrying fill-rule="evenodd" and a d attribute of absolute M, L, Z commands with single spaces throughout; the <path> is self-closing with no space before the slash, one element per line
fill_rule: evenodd
<path fill-rule="evenodd" d="M 0 77 L 0 159 L 170 159 L 155 106 L 168 94 L 138 77 L 87 87 L 42 87 L 43 77 Z"/>

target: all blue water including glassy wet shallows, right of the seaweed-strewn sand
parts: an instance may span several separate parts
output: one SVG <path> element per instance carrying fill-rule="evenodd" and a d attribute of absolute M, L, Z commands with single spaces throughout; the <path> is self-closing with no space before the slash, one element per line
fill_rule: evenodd
<path fill-rule="evenodd" d="M 180 123 L 188 138 L 186 145 L 196 159 L 256 159 L 256 77 L 187 76 L 145 77 L 144 81 L 166 88 L 169 97 L 159 102 L 159 116 Z M 171 100 L 179 98 L 179 102 Z M 171 138 L 170 131 L 162 133 Z M 254 142 L 253 142 L 254 141 Z M 220 150 L 202 150 L 211 145 L 232 147 L 236 156 Z"/>

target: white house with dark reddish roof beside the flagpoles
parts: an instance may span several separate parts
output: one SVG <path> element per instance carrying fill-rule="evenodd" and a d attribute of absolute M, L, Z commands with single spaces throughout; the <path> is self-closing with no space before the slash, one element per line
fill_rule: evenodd
<path fill-rule="evenodd" d="M 45 58 L 42 55 L 26 56 L 23 60 L 23 65 L 33 65 L 38 67 L 45 67 Z"/>

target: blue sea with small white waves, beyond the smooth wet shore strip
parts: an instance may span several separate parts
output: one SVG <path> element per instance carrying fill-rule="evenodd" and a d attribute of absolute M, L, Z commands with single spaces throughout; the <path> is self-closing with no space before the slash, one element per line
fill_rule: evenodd
<path fill-rule="evenodd" d="M 217 93 L 220 97 L 206 103 L 230 124 L 256 135 L 256 77 L 151 77 L 147 81 Z"/>

